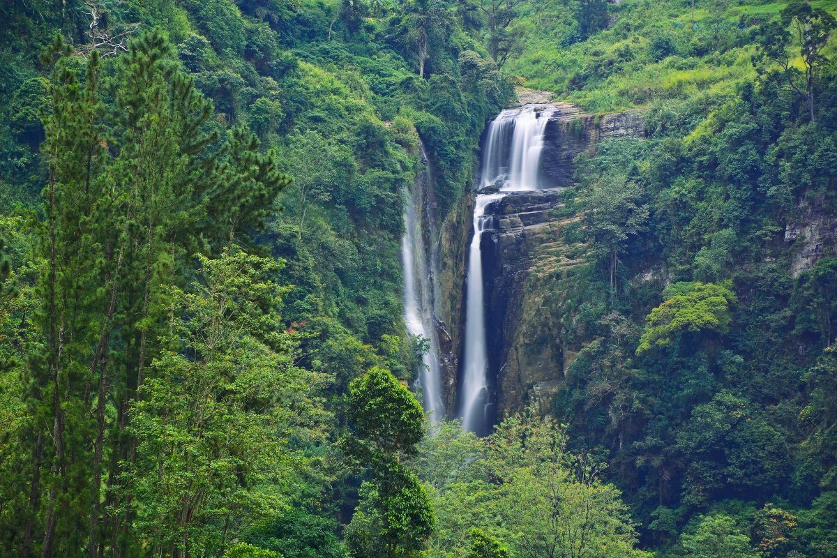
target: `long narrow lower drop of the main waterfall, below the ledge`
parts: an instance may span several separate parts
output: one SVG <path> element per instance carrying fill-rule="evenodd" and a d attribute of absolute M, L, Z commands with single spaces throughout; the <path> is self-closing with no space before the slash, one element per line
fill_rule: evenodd
<path fill-rule="evenodd" d="M 489 219 L 485 207 L 501 199 L 501 194 L 477 196 L 474 205 L 474 237 L 468 253 L 468 278 L 465 299 L 465 356 L 463 358 L 462 426 L 471 432 L 481 433 L 487 424 L 488 403 L 488 351 L 485 346 L 485 299 L 482 284 L 482 258 L 480 238 Z"/>

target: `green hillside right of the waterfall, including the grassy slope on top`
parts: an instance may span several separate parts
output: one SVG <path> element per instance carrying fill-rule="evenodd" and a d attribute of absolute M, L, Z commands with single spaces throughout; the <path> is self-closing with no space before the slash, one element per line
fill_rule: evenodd
<path fill-rule="evenodd" d="M 587 263 L 548 299 L 578 351 L 567 448 L 658 555 L 834 555 L 834 247 L 794 231 L 837 218 L 835 9 L 626 1 L 586 39 L 557 5 L 519 20 L 506 69 L 644 115 L 579 157 L 561 212 Z"/>

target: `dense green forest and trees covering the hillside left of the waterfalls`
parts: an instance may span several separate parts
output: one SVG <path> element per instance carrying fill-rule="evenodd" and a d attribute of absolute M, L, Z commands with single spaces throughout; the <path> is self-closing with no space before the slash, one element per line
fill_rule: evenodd
<path fill-rule="evenodd" d="M 453 207 L 511 96 L 455 10 L 0 21 L 0 555 L 421 548 L 403 189 L 420 135 Z"/>

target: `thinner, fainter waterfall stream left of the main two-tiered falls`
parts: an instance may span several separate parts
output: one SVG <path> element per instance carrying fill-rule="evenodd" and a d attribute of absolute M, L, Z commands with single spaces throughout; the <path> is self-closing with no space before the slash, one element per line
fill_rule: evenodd
<path fill-rule="evenodd" d="M 429 181 L 424 146 L 420 146 L 423 171 L 419 172 L 412 189 L 406 192 L 404 203 L 404 235 L 401 239 L 401 261 L 404 269 L 404 323 L 411 337 L 426 340 L 427 349 L 419 370 L 419 387 L 424 410 L 433 422 L 444 418 L 439 336 L 434 320 L 434 266 L 422 234 L 422 207 L 425 207 L 425 188 L 433 187 Z M 428 211 L 430 208 L 428 207 Z"/>

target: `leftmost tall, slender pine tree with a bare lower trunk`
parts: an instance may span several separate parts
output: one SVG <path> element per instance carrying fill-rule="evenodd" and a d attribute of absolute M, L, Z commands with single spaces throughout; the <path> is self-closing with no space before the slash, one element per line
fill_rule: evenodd
<path fill-rule="evenodd" d="M 40 483 L 47 491 L 44 558 L 79 555 L 90 513 L 88 405 L 93 385 L 91 348 L 100 330 L 102 245 L 98 219 L 105 196 L 99 179 L 103 143 L 99 119 L 98 56 L 91 55 L 84 84 L 69 68 L 69 48 L 57 38 L 49 57 L 55 64 L 51 115 L 44 156 L 49 182 L 44 192 L 40 257 L 44 272 L 35 319 L 43 345 L 32 359 L 33 409 L 37 430 L 33 451 L 32 510 L 24 527 L 21 554 L 32 550 Z M 44 471 L 39 471 L 43 463 Z M 49 467 L 47 468 L 47 465 Z"/>

